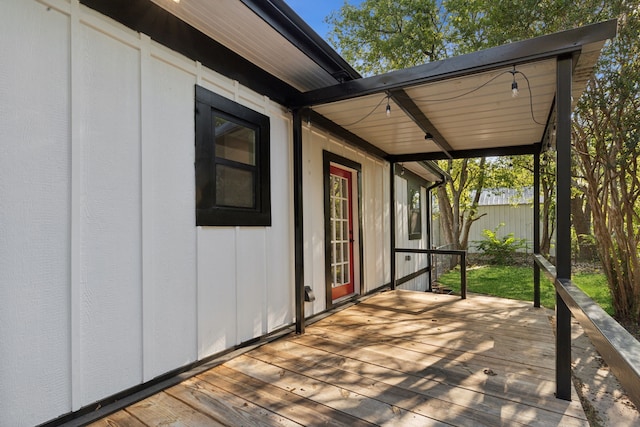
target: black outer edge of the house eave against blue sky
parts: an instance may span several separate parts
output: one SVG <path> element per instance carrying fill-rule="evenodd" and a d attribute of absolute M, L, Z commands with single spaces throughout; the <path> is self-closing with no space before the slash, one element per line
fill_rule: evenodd
<path fill-rule="evenodd" d="M 336 81 L 362 76 L 282 0 L 240 0 Z"/>

